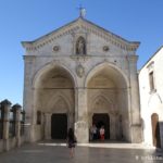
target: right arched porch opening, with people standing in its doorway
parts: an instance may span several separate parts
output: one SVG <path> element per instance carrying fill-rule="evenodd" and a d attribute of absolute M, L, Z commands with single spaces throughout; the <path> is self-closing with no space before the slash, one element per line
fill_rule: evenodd
<path fill-rule="evenodd" d="M 130 140 L 127 84 L 124 74 L 108 63 L 92 68 L 86 79 L 89 127 L 104 124 L 111 140 Z"/>

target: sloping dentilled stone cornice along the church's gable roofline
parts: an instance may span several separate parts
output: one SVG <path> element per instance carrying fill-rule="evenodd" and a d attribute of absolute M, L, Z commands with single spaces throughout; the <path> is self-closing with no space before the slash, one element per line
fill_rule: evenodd
<path fill-rule="evenodd" d="M 96 24 L 85 18 L 77 18 L 34 41 L 23 41 L 22 45 L 26 50 L 36 50 L 40 47 L 43 47 L 47 43 L 52 42 L 53 40 L 63 37 L 65 35 L 75 34 L 77 30 L 85 30 L 88 33 L 93 33 L 99 37 L 102 37 L 106 41 L 126 50 L 136 50 L 139 47 L 138 41 L 128 41 Z"/>

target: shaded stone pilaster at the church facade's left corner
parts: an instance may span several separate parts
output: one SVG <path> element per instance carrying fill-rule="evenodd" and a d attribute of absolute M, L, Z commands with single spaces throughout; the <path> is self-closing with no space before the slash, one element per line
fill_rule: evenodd
<path fill-rule="evenodd" d="M 24 95 L 23 108 L 25 110 L 25 139 L 26 141 L 35 141 L 35 111 L 34 111 L 34 91 L 33 77 L 35 73 L 34 55 L 24 55 Z"/>

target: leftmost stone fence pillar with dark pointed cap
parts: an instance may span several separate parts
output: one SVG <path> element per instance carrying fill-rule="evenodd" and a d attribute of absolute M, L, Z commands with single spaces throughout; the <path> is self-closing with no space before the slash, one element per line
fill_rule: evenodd
<path fill-rule="evenodd" d="M 4 111 L 4 118 L 3 118 L 3 145 L 4 145 L 4 151 L 9 151 L 9 123 L 10 123 L 10 108 L 11 102 L 8 100 L 4 100 L 1 102 L 1 108 Z"/>

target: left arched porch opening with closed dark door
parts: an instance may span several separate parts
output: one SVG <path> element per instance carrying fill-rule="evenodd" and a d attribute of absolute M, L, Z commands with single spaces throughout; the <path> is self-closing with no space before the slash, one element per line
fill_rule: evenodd
<path fill-rule="evenodd" d="M 40 137 L 65 139 L 67 128 L 73 127 L 75 121 L 73 76 L 61 65 L 51 65 L 42 70 L 36 82 L 35 110 L 45 115 L 43 124 L 36 126 Z"/>

